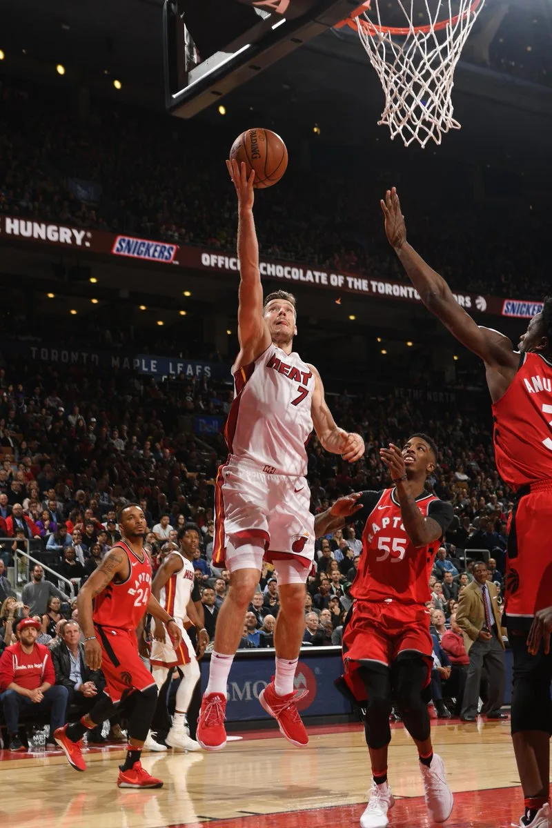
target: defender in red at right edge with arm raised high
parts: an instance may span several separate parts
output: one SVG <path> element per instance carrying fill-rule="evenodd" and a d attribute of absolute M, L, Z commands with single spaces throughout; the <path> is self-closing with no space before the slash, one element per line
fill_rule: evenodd
<path fill-rule="evenodd" d="M 382 209 L 387 238 L 425 306 L 485 363 L 497 469 L 516 491 L 504 618 L 514 655 L 511 734 L 526 806 L 520 826 L 550 828 L 552 297 L 530 320 L 517 353 L 507 336 L 476 325 L 444 278 L 410 247 L 395 188 L 387 190 Z"/>

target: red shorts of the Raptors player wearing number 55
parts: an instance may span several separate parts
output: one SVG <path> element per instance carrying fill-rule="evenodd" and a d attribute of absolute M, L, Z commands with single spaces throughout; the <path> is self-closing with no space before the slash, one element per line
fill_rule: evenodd
<path fill-rule="evenodd" d="M 391 667 L 401 652 L 419 652 L 431 659 L 430 612 L 420 604 L 398 601 L 355 600 L 353 613 L 343 630 L 345 672 L 359 662 Z"/>

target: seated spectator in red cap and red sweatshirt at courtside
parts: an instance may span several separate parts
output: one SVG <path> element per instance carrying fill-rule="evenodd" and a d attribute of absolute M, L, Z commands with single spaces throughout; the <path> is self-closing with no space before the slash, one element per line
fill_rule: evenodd
<path fill-rule="evenodd" d="M 14 625 L 15 626 L 15 625 Z M 17 643 L 7 647 L 0 657 L 0 700 L 10 739 L 10 750 L 25 750 L 19 739 L 19 715 L 22 710 L 50 710 L 50 734 L 65 722 L 69 693 L 55 686 L 55 671 L 50 651 L 36 643 L 41 624 L 35 619 L 17 623 Z M 50 736 L 53 744 L 53 738 Z"/>

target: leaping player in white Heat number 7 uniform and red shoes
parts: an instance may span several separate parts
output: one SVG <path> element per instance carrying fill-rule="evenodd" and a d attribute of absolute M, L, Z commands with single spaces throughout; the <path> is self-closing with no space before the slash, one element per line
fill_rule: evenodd
<path fill-rule="evenodd" d="M 276 676 L 259 700 L 292 744 L 308 737 L 295 702 L 295 667 L 305 629 L 305 582 L 314 559 L 314 515 L 305 474 L 305 444 L 313 430 L 324 449 L 353 463 L 364 454 L 358 434 L 338 428 L 313 365 L 293 351 L 295 298 L 285 291 L 263 306 L 253 221 L 254 172 L 228 161 L 238 194 L 240 262 L 238 337 L 233 364 L 235 398 L 225 437 L 228 461 L 218 470 L 213 561 L 230 570 L 218 612 L 209 685 L 197 739 L 208 750 L 226 744 L 226 686 L 242 635 L 243 617 L 260 580 L 263 559 L 276 566 L 280 610 L 274 632 Z M 302 694 L 301 694 L 302 695 Z"/>

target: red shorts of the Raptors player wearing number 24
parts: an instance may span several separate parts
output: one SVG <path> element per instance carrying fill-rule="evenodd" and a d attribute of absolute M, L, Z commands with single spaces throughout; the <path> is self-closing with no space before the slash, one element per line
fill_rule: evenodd
<path fill-rule="evenodd" d="M 156 682 L 138 655 L 136 633 L 132 629 L 100 627 L 95 625 L 102 647 L 102 672 L 106 691 L 113 701 L 133 690 L 146 690 Z"/>

